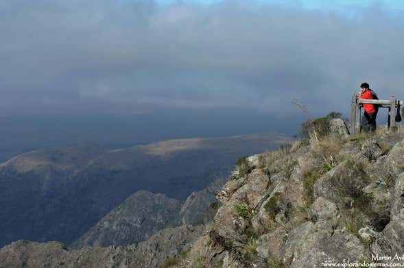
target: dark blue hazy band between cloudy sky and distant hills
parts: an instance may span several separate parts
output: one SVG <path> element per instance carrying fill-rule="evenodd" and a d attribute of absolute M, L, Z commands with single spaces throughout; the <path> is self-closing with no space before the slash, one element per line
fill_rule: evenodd
<path fill-rule="evenodd" d="M 273 129 L 277 118 L 248 111 L 155 111 L 145 114 L 34 115 L 0 118 L 0 163 L 23 152 L 75 143 L 124 148 L 167 139 L 228 137 L 263 132 L 295 135 L 296 126 Z"/>

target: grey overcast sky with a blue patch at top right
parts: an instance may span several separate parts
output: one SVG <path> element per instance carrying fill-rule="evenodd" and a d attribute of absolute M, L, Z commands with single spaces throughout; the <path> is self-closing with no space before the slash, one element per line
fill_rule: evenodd
<path fill-rule="evenodd" d="M 402 1 L 281 2 L 0 1 L 0 110 L 320 114 L 364 81 L 404 98 Z"/>

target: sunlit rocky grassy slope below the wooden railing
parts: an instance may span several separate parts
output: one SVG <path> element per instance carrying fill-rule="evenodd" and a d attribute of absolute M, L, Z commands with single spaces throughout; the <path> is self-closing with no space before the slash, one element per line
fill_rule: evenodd
<path fill-rule="evenodd" d="M 401 256 L 403 196 L 403 129 L 254 155 L 219 193 L 206 235 L 171 267 L 324 267 Z"/>

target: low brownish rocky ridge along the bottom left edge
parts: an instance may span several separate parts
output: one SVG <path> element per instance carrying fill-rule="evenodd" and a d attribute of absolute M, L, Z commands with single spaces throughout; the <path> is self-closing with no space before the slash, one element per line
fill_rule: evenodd
<path fill-rule="evenodd" d="M 0 250 L 0 267 L 155 268 L 171 256 L 187 252 L 202 232 L 202 226 L 180 226 L 161 230 L 139 245 L 81 250 L 68 250 L 58 242 L 16 241 Z"/>

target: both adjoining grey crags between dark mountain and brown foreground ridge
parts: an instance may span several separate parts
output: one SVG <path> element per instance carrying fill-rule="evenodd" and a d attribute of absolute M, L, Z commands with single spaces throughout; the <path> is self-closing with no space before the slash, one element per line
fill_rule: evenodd
<path fill-rule="evenodd" d="M 131 245 L 149 239 L 164 228 L 206 224 L 215 213 L 211 207 L 216 202 L 214 193 L 222 185 L 222 179 L 215 180 L 202 191 L 191 193 L 182 204 L 161 193 L 137 191 L 69 247 Z"/>

